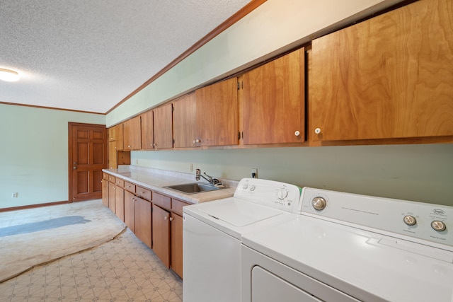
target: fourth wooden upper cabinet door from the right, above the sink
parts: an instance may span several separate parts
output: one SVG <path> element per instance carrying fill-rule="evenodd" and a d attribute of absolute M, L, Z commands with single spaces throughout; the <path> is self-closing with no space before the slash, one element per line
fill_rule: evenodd
<path fill-rule="evenodd" d="M 185 95 L 173 103 L 173 139 L 175 140 L 175 148 L 195 146 L 196 108 L 195 93 Z"/>

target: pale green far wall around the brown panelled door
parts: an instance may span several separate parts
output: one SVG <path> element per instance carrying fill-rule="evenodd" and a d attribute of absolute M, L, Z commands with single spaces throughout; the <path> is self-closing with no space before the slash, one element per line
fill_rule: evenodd
<path fill-rule="evenodd" d="M 68 122 L 105 115 L 0 104 L 0 208 L 68 200 Z"/>

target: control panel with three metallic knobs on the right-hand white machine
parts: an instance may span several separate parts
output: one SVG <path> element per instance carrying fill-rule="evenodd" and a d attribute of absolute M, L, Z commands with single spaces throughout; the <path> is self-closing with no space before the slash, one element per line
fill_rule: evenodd
<path fill-rule="evenodd" d="M 453 247 L 453 207 L 304 187 L 299 214 Z"/>

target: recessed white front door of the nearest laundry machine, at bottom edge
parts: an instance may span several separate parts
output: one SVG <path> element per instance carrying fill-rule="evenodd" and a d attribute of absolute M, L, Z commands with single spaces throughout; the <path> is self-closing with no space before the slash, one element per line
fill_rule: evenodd
<path fill-rule="evenodd" d="M 263 269 L 252 269 L 252 302 L 321 302 L 302 289 Z"/>

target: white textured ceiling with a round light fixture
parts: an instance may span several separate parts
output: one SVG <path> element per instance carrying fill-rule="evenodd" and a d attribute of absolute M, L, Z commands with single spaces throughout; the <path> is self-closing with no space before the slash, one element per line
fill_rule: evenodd
<path fill-rule="evenodd" d="M 0 103 L 105 113 L 250 0 L 1 0 Z"/>

